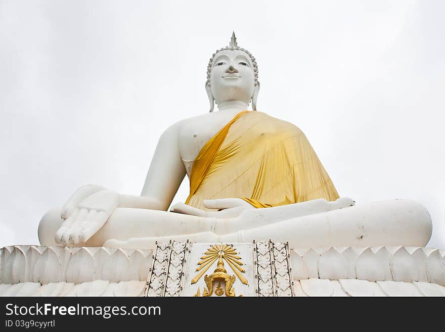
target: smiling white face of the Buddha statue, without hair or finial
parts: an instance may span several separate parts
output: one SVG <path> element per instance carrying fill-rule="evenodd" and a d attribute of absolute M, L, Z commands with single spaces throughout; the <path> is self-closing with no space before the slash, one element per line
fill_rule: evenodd
<path fill-rule="evenodd" d="M 255 74 L 250 57 L 244 51 L 216 53 L 210 71 L 210 89 L 216 103 L 230 100 L 249 103 L 255 88 Z"/>

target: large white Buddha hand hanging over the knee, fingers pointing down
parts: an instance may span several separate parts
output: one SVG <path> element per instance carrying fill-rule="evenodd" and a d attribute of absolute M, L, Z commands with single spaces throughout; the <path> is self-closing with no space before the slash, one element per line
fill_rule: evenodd
<path fill-rule="evenodd" d="M 91 238 L 119 206 L 119 194 L 88 184 L 77 189 L 62 208 L 65 219 L 56 233 L 56 243 L 75 245 Z"/>

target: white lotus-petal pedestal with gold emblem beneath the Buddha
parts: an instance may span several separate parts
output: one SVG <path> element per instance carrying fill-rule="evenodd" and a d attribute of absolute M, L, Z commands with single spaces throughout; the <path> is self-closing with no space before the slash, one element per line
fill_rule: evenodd
<path fill-rule="evenodd" d="M 435 248 L 0 249 L 0 296 L 445 296 L 444 286 L 445 251 Z"/>

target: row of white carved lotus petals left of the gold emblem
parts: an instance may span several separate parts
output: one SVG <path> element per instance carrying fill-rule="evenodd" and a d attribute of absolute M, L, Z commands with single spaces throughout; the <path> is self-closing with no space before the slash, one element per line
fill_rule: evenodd
<path fill-rule="evenodd" d="M 10 246 L 0 249 L 0 283 L 145 281 L 151 250 Z"/>

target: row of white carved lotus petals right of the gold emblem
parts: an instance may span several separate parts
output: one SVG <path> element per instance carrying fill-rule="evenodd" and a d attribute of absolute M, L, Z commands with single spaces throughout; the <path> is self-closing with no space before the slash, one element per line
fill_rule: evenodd
<path fill-rule="evenodd" d="M 362 279 L 420 281 L 445 286 L 445 251 L 422 247 L 328 247 L 294 249 L 294 280 Z"/>

